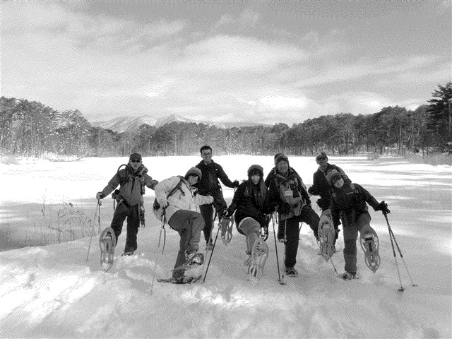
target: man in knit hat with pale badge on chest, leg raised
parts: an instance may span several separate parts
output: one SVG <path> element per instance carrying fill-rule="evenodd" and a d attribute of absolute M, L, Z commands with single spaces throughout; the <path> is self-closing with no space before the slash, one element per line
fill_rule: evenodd
<path fill-rule="evenodd" d="M 275 159 L 276 175 L 270 181 L 269 203 L 278 206 L 279 225 L 285 225 L 285 273 L 297 275 L 294 266 L 297 263 L 299 243 L 299 222 L 306 222 L 318 238 L 319 215 L 311 208 L 311 200 L 302 182 L 302 178 L 289 166 L 285 155 Z"/>

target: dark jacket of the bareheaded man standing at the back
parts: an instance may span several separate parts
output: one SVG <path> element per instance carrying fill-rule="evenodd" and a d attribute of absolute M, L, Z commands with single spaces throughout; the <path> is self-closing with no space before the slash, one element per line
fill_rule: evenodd
<path fill-rule="evenodd" d="M 221 191 L 220 182 L 230 188 L 234 188 L 234 184 L 227 177 L 223 168 L 218 165 L 213 160 L 210 164 L 206 164 L 203 160 L 196 165 L 198 169 L 201 169 L 201 173 L 203 174 L 201 180 L 198 182 L 198 193 L 203 194 L 204 196 L 210 196 L 215 191 Z"/>

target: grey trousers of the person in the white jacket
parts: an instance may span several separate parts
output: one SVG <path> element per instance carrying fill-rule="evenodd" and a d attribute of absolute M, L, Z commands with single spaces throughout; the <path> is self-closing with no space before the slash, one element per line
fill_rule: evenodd
<path fill-rule="evenodd" d="M 199 249 L 199 239 L 201 230 L 204 227 L 204 220 L 201 214 L 193 210 L 177 210 L 169 218 L 168 225 L 179 233 L 179 251 L 177 252 L 174 268 L 185 263 L 185 253 L 195 253 Z M 173 270 L 172 278 L 184 276 L 184 270 Z"/>

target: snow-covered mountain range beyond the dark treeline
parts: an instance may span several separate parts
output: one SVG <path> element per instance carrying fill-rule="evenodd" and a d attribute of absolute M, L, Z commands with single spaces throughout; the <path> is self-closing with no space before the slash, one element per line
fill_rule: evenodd
<path fill-rule="evenodd" d="M 189 119 L 186 117 L 182 117 L 177 114 L 171 114 L 167 117 L 162 117 L 156 119 L 154 117 L 150 117 L 149 115 L 143 115 L 142 117 L 117 117 L 108 121 L 97 121 L 91 123 L 94 127 L 102 127 L 102 129 L 111 129 L 112 131 L 122 133 L 128 132 L 138 129 L 143 124 L 148 124 L 150 126 L 160 127 L 165 124 L 169 124 L 173 121 L 177 122 L 194 122 L 196 124 L 206 124 L 208 126 L 216 126 L 218 129 L 224 129 L 225 125 L 222 124 L 213 124 L 204 121 L 197 121 L 193 119 Z"/>

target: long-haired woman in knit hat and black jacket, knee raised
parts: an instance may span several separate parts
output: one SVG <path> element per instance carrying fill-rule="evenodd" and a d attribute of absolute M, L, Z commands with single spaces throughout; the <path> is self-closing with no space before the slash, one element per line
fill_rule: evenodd
<path fill-rule="evenodd" d="M 235 191 L 225 215 L 230 218 L 235 212 L 237 231 L 246 236 L 246 254 L 251 255 L 254 242 L 261 237 L 261 227 L 268 225 L 267 214 L 273 210 L 270 210 L 268 205 L 268 189 L 263 182 L 263 168 L 251 165 L 248 169 L 248 180 L 242 182 Z"/>

